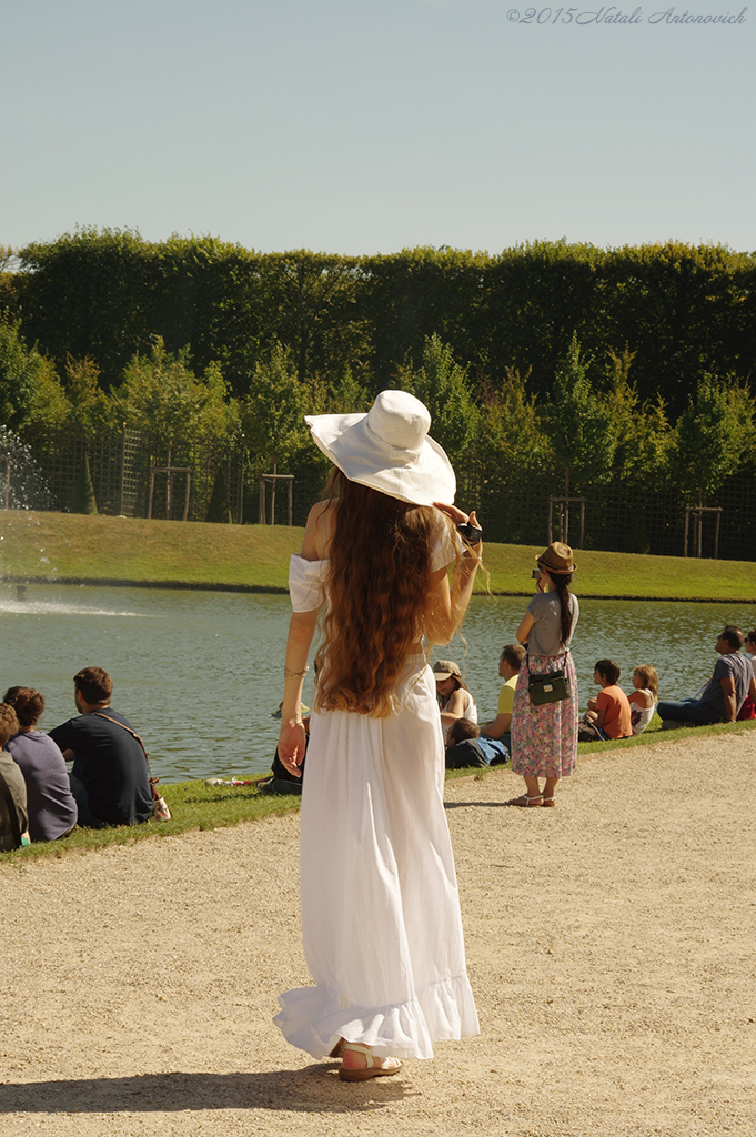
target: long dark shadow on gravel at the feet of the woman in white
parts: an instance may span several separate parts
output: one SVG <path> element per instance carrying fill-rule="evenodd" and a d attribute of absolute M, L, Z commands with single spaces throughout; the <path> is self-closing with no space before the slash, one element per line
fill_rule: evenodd
<path fill-rule="evenodd" d="M 393 1078 L 347 1085 L 337 1065 L 267 1073 L 147 1073 L 0 1085 L 0 1113 L 184 1113 L 197 1110 L 373 1112 L 407 1097 Z M 410 1090 L 410 1095 L 413 1092 Z"/>

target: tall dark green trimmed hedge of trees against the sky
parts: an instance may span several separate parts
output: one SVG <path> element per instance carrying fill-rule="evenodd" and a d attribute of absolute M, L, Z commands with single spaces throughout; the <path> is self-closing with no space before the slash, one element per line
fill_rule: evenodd
<path fill-rule="evenodd" d="M 477 404 L 513 372 L 543 400 L 576 335 L 593 391 L 609 396 L 626 350 L 641 404 L 661 398 L 675 420 L 707 374 L 750 389 L 755 285 L 755 254 L 672 242 L 342 257 L 84 229 L 0 256 L 0 310 L 59 374 L 92 360 L 105 391 L 160 337 L 198 374 L 219 365 L 238 399 L 279 347 L 302 384 L 375 393 L 438 335 Z"/>

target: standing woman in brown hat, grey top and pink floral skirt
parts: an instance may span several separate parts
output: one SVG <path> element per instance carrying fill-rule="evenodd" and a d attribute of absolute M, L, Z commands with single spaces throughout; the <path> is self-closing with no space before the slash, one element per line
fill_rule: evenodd
<path fill-rule="evenodd" d="M 575 766 L 578 755 L 578 682 L 570 641 L 578 623 L 578 597 L 570 591 L 575 565 L 572 549 L 554 541 L 535 558 L 541 571 L 539 591 L 527 605 L 517 640 L 527 647 L 512 708 L 512 769 L 525 780 L 525 792 L 508 805 L 556 804 L 556 788 Z M 570 696 L 535 706 L 529 696 L 530 675 L 563 670 Z M 543 788 L 539 778 L 545 778 Z"/>

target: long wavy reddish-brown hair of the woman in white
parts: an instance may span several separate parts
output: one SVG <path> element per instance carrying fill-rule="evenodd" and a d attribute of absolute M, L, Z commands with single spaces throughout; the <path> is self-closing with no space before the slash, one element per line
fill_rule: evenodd
<path fill-rule="evenodd" d="M 337 468 L 329 490 L 334 520 L 315 706 L 382 719 L 397 708 L 399 673 L 422 642 L 433 548 L 451 522 Z"/>

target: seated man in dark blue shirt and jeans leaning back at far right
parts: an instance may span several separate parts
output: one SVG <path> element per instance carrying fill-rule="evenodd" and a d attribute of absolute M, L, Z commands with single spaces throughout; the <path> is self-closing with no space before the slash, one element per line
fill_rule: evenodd
<path fill-rule="evenodd" d="M 746 696 L 756 703 L 756 679 L 750 662 L 740 654 L 742 632 L 734 624 L 728 624 L 716 640 L 720 658 L 714 674 L 704 688 L 700 698 L 683 699 L 682 703 L 663 702 L 657 706 L 664 730 L 679 725 L 706 727 L 714 722 L 734 722 Z"/>

